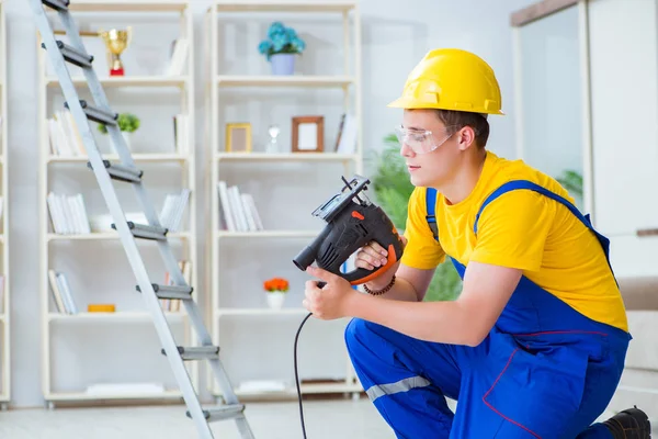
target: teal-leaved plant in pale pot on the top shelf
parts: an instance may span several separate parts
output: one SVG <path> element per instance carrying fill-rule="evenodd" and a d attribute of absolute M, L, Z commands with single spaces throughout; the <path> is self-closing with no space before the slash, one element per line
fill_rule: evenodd
<path fill-rule="evenodd" d="M 305 48 L 306 43 L 297 32 L 279 21 L 270 24 L 268 38 L 258 46 L 260 54 L 270 61 L 272 75 L 293 75 L 295 56 L 302 54 Z"/>

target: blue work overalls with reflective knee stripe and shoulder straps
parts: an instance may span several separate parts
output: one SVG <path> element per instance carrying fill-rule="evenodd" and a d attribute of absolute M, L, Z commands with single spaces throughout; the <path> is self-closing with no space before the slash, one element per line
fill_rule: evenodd
<path fill-rule="evenodd" d="M 566 205 L 609 257 L 610 241 L 589 215 L 525 180 L 503 184 L 485 201 L 475 233 L 483 210 L 511 190 Z M 428 190 L 427 199 L 431 222 L 435 192 Z M 463 279 L 465 267 L 453 263 Z M 345 330 L 364 390 L 404 439 L 610 439 L 603 425 L 591 424 L 615 392 L 629 340 L 628 333 L 587 318 L 525 277 L 477 347 L 421 341 L 362 319 Z M 456 414 L 444 395 L 458 399 Z"/>

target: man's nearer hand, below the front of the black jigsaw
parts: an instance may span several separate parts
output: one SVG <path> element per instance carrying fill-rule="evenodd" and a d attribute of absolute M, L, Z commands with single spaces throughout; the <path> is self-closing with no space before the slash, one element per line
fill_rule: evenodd
<path fill-rule="evenodd" d="M 317 267 L 308 267 L 306 272 L 327 284 L 319 289 L 317 281 L 306 281 L 304 307 L 322 320 L 348 317 L 350 301 L 359 294 L 350 282 Z"/>

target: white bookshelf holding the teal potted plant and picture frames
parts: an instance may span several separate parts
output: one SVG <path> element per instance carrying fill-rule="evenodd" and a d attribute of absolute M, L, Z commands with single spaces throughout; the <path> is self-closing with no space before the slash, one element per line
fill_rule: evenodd
<path fill-rule="evenodd" d="M 273 21 L 294 27 L 306 42 L 295 75 L 271 75 L 258 53 L 258 43 Z M 239 396 L 291 397 L 296 395 L 292 348 L 307 313 L 302 299 L 308 279 L 292 259 L 324 227 L 311 212 L 340 190 L 341 176 L 350 178 L 363 169 L 359 4 L 219 0 L 206 11 L 204 35 L 205 172 L 211 210 L 206 261 L 213 337 Z M 339 43 L 320 48 L 319 41 Z M 332 58 L 324 65 L 319 58 L 325 55 Z M 355 148 L 347 154 L 337 153 L 334 146 L 341 113 L 351 114 L 358 127 Z M 292 151 L 292 117 L 300 115 L 325 117 L 322 151 Z M 246 122 L 251 124 L 251 150 L 227 150 L 226 124 Z M 282 149 L 276 153 L 263 145 L 271 123 L 281 126 Z M 293 178 L 302 183 L 293 183 Z M 304 183 L 309 179 L 311 183 Z M 226 225 L 219 181 L 252 196 L 262 227 L 252 224 L 236 230 Z M 262 289 L 274 277 L 291 283 L 280 309 L 268 306 Z M 314 318 L 306 323 L 297 352 L 304 394 L 362 391 L 344 348 L 345 324 Z M 258 389 L 254 381 L 275 385 Z M 222 396 L 216 385 L 211 392 Z"/>

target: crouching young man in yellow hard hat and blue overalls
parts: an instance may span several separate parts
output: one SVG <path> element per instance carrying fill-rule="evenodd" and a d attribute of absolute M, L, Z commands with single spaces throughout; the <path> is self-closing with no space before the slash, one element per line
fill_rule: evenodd
<path fill-rule="evenodd" d="M 498 81 L 479 57 L 431 50 L 409 75 L 398 130 L 416 187 L 406 248 L 362 294 L 318 268 L 304 306 L 354 317 L 347 346 L 367 395 L 398 438 L 648 438 L 637 408 L 594 420 L 631 340 L 605 237 L 553 178 L 488 151 Z M 450 256 L 460 297 L 423 302 Z M 373 243 L 359 267 L 386 264 Z M 445 396 L 457 399 L 449 409 Z"/>

